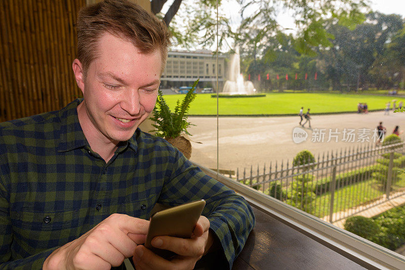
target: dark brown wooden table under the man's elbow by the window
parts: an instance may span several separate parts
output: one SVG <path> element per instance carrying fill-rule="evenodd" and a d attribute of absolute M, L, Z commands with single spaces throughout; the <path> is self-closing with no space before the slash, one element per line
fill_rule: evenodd
<path fill-rule="evenodd" d="M 244 249 L 235 259 L 233 270 L 251 269 L 366 269 L 276 218 L 253 208 L 256 226 Z M 195 269 L 222 269 L 211 257 Z"/>

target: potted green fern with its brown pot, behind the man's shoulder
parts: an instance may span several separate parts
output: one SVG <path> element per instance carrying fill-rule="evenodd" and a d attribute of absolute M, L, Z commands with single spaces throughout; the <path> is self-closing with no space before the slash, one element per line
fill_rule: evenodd
<path fill-rule="evenodd" d="M 197 83 L 198 80 L 193 83 L 181 103 L 179 100 L 177 101 L 174 112 L 170 111 L 163 94 L 159 90 L 153 116 L 150 117 L 155 122 L 152 126 L 156 128 L 151 131 L 155 131 L 156 136 L 165 138 L 170 144 L 177 147 L 186 158 L 191 157 L 191 144 L 187 136 L 191 136 L 191 134 L 187 131 L 187 128 L 193 125 L 187 121 L 187 113 L 191 102 L 197 96 L 194 93 Z"/>

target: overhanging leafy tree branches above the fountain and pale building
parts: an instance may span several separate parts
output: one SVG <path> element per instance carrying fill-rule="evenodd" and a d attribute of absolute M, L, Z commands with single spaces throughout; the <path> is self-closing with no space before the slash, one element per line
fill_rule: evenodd
<path fill-rule="evenodd" d="M 167 0 L 152 0 L 151 10 L 163 18 L 179 44 L 187 45 L 194 42 L 199 34 L 203 38 L 198 39 L 197 43 L 209 45 L 214 42 L 216 0 L 174 0 L 166 14 L 160 14 L 167 2 Z M 276 21 L 282 9 L 294 11 L 295 22 L 299 29 L 295 40 L 296 49 L 300 53 L 314 55 L 314 48 L 318 45 L 330 45 L 328 38 L 331 35 L 324 29 L 324 17 L 332 16 L 340 24 L 353 27 L 363 21 L 364 15 L 361 10 L 367 7 L 366 0 L 237 0 L 237 2 L 241 5 L 242 23 L 239 29 L 233 32 L 228 18 L 219 15 L 219 43 L 226 42 L 227 37 L 235 38 L 242 46 L 252 48 L 255 56 L 261 56 L 263 45 L 269 38 L 277 37 L 285 30 Z M 221 3 L 222 0 L 218 0 L 218 5 Z M 182 4 L 183 7 L 190 9 L 185 14 L 179 15 L 178 11 Z M 252 10 L 253 12 L 250 12 Z M 175 16 L 182 17 L 183 20 L 179 21 L 185 23 L 181 30 L 174 23 Z"/>

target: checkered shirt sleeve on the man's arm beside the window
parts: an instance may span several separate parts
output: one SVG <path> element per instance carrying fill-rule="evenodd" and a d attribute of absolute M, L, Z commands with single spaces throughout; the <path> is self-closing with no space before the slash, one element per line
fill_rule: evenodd
<path fill-rule="evenodd" d="M 203 215 L 210 220 L 210 230 L 222 246 L 229 269 L 255 226 L 255 217 L 247 201 L 223 184 L 192 165 L 182 154 L 176 154 L 167 170 L 159 203 L 177 205 L 205 199 Z"/>

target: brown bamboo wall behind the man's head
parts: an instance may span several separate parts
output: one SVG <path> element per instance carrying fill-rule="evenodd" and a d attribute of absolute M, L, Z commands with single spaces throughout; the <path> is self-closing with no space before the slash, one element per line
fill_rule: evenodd
<path fill-rule="evenodd" d="M 74 23 L 86 0 L 0 1 L 0 122 L 58 110 L 81 95 Z"/>

